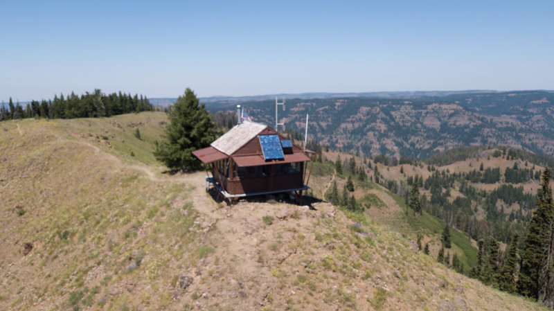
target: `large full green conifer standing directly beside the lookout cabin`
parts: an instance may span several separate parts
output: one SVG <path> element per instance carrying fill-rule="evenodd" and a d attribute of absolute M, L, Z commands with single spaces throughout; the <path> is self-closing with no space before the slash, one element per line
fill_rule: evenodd
<path fill-rule="evenodd" d="M 208 147 L 217 136 L 215 124 L 205 108 L 206 105 L 199 103 L 191 89 L 186 89 L 184 96 L 177 98 L 177 103 L 169 110 L 166 141 L 156 144 L 156 159 L 172 170 L 200 168 L 200 162 L 192 152 Z"/>

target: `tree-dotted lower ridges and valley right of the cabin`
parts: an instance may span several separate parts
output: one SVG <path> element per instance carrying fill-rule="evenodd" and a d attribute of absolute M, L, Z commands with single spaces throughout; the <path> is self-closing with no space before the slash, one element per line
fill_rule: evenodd
<path fill-rule="evenodd" d="M 477 278 L 485 285 L 529 296 L 552 307 L 554 268 L 549 254 L 554 254 L 554 206 L 549 184 L 551 172 L 547 165 L 538 167 L 534 163 L 545 165 L 552 159 L 531 157 L 529 152 L 508 148 L 461 148 L 458 151 L 443 152 L 436 159 L 442 159 L 445 154 L 457 154 L 454 167 L 469 164 L 471 168 L 471 163 L 475 162 L 481 165 L 471 170 L 451 171 L 445 166 L 410 158 L 399 161 L 384 154 L 367 157 L 339 153 L 336 161 L 323 159 L 316 164 L 314 174 L 332 175 L 334 171 L 336 178 L 330 182 L 324 197 L 354 213 L 384 206 L 364 189 L 372 188 L 372 183 L 387 188 L 404 198 L 406 216 L 413 222 L 415 231 L 431 229 L 427 227 L 433 223 L 429 219 L 431 216 L 444 224 L 440 237 L 442 247 L 438 256 L 437 253 L 433 255 L 439 263 Z M 490 166 L 491 163 L 498 166 Z M 422 173 L 406 175 L 406 172 L 421 170 Z M 398 172 L 402 177 L 398 177 Z M 485 190 L 479 186 L 483 184 L 494 187 L 485 187 L 488 189 Z M 525 190 L 531 184 L 539 186 L 537 193 Z M 459 245 L 459 236 L 458 250 L 451 249 L 454 245 L 451 228 L 458 234 L 463 233 L 468 240 L 476 241 L 478 249 L 474 255 Z M 437 233 L 436 229 L 432 230 Z M 420 251 L 430 254 L 429 245 L 424 247 L 420 233 L 417 240 Z M 472 259 L 472 256 L 475 257 Z"/>

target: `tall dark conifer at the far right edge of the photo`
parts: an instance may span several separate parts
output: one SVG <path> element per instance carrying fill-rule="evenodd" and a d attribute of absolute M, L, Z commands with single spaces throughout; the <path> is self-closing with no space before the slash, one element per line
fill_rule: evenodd
<path fill-rule="evenodd" d="M 529 229 L 521 252 L 521 269 L 517 281 L 517 292 L 535 299 L 539 294 L 539 267 L 544 257 L 547 241 L 544 240 L 553 218 L 552 189 L 549 186 L 551 171 L 547 167 L 542 172 L 542 184 L 537 196 L 537 208 L 529 222 Z"/>

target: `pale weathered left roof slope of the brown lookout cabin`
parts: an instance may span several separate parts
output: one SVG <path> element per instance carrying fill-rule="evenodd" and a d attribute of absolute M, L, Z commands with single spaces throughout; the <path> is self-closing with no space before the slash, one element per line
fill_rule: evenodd
<path fill-rule="evenodd" d="M 235 127 L 223 134 L 219 139 L 216 139 L 211 143 L 211 146 L 224 154 L 231 155 L 266 128 L 267 125 L 244 121 L 239 125 L 235 125 Z"/>

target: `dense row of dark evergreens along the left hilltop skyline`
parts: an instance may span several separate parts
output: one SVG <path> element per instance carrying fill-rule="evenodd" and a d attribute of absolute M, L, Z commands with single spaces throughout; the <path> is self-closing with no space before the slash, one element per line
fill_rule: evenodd
<path fill-rule="evenodd" d="M 153 109 L 146 96 L 131 96 L 121 91 L 103 94 L 100 89 L 95 89 L 92 93 L 86 92 L 81 96 L 71 92 L 69 96 L 55 95 L 53 100 L 31 100 L 24 106 L 14 104 L 10 98 L 8 107 L 0 107 L 0 121 L 21 118 L 95 118 Z"/>

